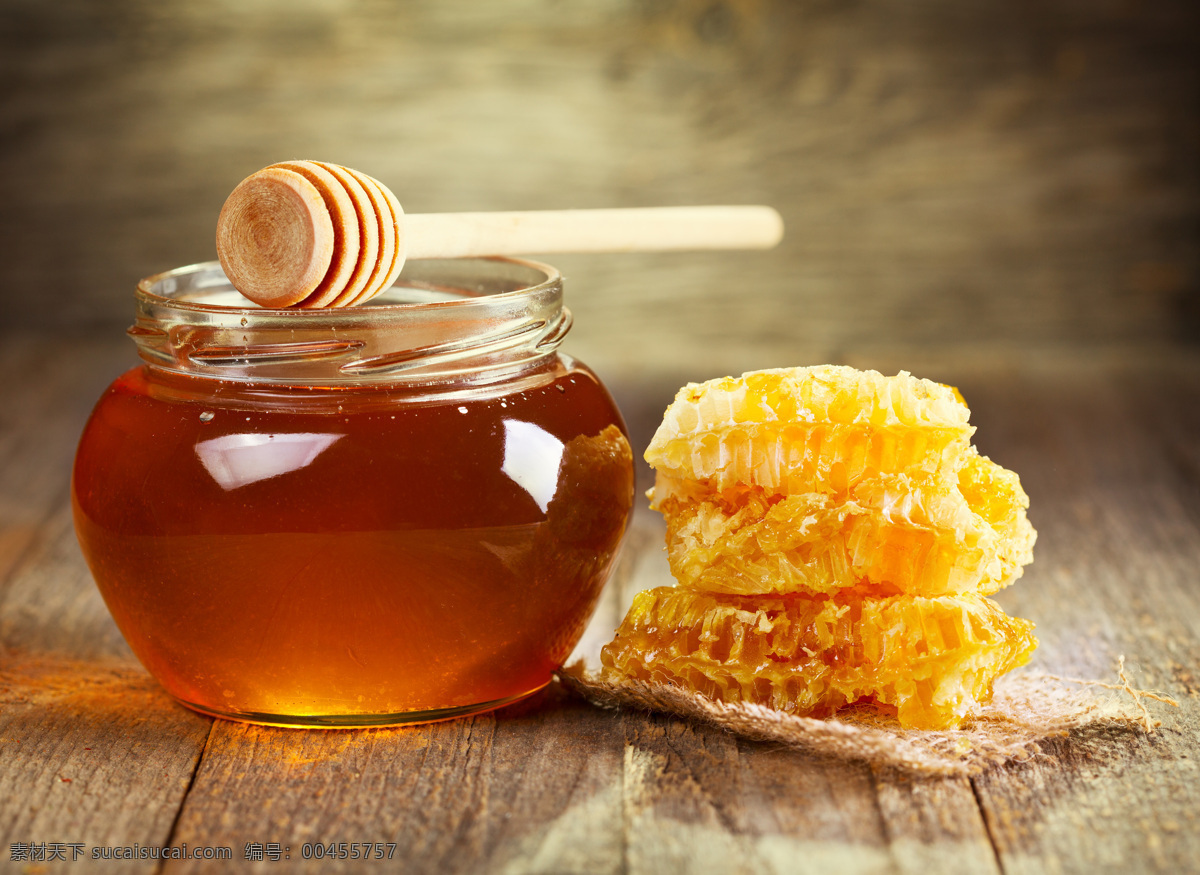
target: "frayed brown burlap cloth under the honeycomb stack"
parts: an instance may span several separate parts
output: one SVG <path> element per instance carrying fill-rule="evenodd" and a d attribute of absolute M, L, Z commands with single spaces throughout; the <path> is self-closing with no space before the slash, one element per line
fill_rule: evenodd
<path fill-rule="evenodd" d="M 611 683 L 583 661 L 565 666 L 559 681 L 605 708 L 660 711 L 720 726 L 742 738 L 787 744 L 812 754 L 858 760 L 914 775 L 973 775 L 1009 761 L 1027 760 L 1039 743 L 1073 731 L 1117 729 L 1153 732 L 1146 702 L 1176 702 L 1135 690 L 1117 665 L 1118 683 L 1013 672 L 996 683 L 988 705 L 961 729 L 904 730 L 869 709 L 847 709 L 817 720 L 758 705 L 713 701 L 671 684 Z"/>

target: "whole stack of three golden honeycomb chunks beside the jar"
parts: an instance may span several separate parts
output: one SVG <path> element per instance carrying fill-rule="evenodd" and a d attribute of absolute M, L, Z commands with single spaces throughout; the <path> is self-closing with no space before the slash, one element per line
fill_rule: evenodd
<path fill-rule="evenodd" d="M 637 597 L 606 679 L 959 725 L 1037 645 L 985 598 L 1021 575 L 1036 533 L 968 416 L 954 389 L 904 372 L 684 386 L 646 451 L 678 585 Z"/>

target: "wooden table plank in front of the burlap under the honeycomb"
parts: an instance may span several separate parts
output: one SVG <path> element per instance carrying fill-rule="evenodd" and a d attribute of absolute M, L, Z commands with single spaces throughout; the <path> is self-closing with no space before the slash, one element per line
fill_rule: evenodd
<path fill-rule="evenodd" d="M 971 785 L 623 713 L 630 873 L 996 873 Z"/>

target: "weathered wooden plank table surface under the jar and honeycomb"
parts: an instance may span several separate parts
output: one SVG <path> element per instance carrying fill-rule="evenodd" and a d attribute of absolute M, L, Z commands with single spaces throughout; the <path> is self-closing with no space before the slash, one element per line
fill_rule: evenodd
<path fill-rule="evenodd" d="M 0 338 L 0 870 L 413 873 L 1196 871 L 1200 359 L 964 372 L 976 442 L 1018 471 L 1040 538 L 1001 595 L 1034 667 L 1174 696 L 1163 725 L 1046 742 L 973 779 L 914 780 L 607 712 L 552 685 L 406 729 L 242 725 L 175 705 L 120 639 L 72 532 L 70 462 L 124 337 Z M 676 386 L 616 386 L 644 443 Z M 583 649 L 667 577 L 641 510 Z M 104 847 L 212 863 L 72 863 Z M 386 861 L 305 859 L 382 843 Z M 361 844 L 360 844 L 361 847 Z M 336 849 L 335 849 L 336 850 Z M 60 852 L 67 862 L 22 859 Z M 270 857 L 277 853 L 280 859 Z M 262 855 L 263 861 L 247 859 Z"/>

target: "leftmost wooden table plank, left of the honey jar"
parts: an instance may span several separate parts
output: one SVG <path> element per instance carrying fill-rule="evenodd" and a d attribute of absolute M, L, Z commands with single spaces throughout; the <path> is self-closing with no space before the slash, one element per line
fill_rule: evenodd
<path fill-rule="evenodd" d="M 68 340 L 0 343 L 10 377 L 0 383 L 0 846 L 13 865 L 17 843 L 77 843 L 84 855 L 166 844 L 210 724 L 137 665 L 79 553 L 72 455 L 92 403 L 132 355 L 120 336 Z M 74 850 L 64 850 L 68 862 L 46 867 L 71 867 Z"/>

